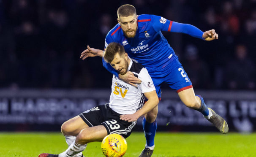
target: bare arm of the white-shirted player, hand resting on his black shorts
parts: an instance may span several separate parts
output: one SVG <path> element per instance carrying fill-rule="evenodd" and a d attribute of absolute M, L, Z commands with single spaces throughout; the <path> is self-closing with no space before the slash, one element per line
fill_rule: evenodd
<path fill-rule="evenodd" d="M 135 122 L 140 116 L 144 116 L 149 111 L 151 111 L 153 108 L 155 108 L 158 105 L 158 96 L 155 92 L 155 90 L 151 92 L 145 92 L 144 95 L 147 97 L 147 103 L 144 104 L 144 106 L 139 109 L 134 114 L 123 114 L 120 116 L 121 120 L 125 120 L 128 122 Z"/>

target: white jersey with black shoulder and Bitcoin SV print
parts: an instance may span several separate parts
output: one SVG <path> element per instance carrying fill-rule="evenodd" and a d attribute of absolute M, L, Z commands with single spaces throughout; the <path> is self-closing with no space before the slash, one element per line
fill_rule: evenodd
<path fill-rule="evenodd" d="M 143 65 L 131 60 L 128 71 L 131 71 L 142 83 L 137 84 L 138 87 L 133 87 L 113 76 L 109 107 L 119 114 L 134 114 L 144 104 L 143 93 L 155 90 L 153 81 Z"/>

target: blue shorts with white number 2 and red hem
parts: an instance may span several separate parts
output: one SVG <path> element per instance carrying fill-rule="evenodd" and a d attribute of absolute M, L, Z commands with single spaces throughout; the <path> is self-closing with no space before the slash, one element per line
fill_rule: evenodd
<path fill-rule="evenodd" d="M 188 78 L 188 74 L 181 65 L 177 65 L 175 68 L 172 68 L 172 71 L 165 77 L 155 78 L 151 76 L 151 78 L 154 82 L 155 91 L 158 97 L 161 97 L 161 84 L 163 82 L 167 83 L 169 87 L 174 89 L 177 93 L 182 90 L 192 88 L 192 83 Z"/>

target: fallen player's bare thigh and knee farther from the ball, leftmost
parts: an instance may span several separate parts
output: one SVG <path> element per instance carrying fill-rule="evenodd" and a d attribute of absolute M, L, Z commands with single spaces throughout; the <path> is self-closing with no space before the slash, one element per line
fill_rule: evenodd
<path fill-rule="evenodd" d="M 77 135 L 82 129 L 89 127 L 80 116 L 75 116 L 61 126 L 63 135 Z"/>

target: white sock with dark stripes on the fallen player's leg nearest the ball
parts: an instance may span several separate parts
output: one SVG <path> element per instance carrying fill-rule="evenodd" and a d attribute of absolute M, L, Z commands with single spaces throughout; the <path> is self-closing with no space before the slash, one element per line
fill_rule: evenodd
<path fill-rule="evenodd" d="M 59 157 L 76 157 L 78 153 L 82 153 L 84 151 L 86 146 L 87 144 L 78 144 L 74 141 L 65 152 L 59 154 Z"/>

